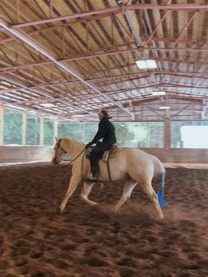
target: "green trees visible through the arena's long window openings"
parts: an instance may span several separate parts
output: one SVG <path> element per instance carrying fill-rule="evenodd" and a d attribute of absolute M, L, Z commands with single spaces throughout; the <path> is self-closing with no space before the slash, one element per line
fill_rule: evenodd
<path fill-rule="evenodd" d="M 54 144 L 54 122 L 44 118 L 44 145 Z M 60 137 L 88 143 L 98 129 L 97 123 L 57 123 Z M 115 122 L 116 138 L 120 146 L 140 148 L 164 147 L 164 122 Z M 208 122 L 172 122 L 171 148 L 183 148 L 181 129 L 184 126 L 207 126 Z M 6 108 L 4 120 L 4 145 L 21 145 L 21 111 Z M 40 145 L 40 118 L 28 114 L 26 121 L 26 145 Z M 199 147 L 200 148 L 200 145 Z"/>

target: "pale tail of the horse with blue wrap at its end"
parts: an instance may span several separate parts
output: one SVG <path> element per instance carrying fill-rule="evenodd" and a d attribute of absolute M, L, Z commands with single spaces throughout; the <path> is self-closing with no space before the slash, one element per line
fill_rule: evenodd
<path fill-rule="evenodd" d="M 160 175 L 161 177 L 161 188 L 159 188 L 157 192 L 159 206 L 161 208 L 165 208 L 167 206 L 164 200 L 164 184 L 165 184 L 166 170 L 162 162 L 159 161 L 159 159 L 157 159 L 155 156 L 152 156 L 152 157 L 153 157 L 153 163 L 154 163 L 154 177 L 157 175 Z"/>

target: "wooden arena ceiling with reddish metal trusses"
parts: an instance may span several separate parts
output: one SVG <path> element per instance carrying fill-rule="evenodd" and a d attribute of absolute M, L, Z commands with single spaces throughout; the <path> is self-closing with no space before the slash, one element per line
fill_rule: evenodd
<path fill-rule="evenodd" d="M 0 105 L 69 121 L 103 108 L 114 120 L 206 119 L 208 1 L 118 3 L 2 0 Z M 157 69 L 138 69 L 144 59 Z"/>

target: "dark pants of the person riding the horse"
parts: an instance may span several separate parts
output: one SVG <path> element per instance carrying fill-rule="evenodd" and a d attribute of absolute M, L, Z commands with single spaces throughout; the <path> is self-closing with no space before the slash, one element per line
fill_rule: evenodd
<path fill-rule="evenodd" d="M 90 166 L 93 176 L 98 175 L 99 172 L 99 165 L 98 161 L 101 159 L 101 155 L 106 151 L 110 149 L 109 144 L 107 143 L 99 143 L 96 145 L 94 150 L 92 150 L 89 154 L 89 160 L 90 160 Z"/>

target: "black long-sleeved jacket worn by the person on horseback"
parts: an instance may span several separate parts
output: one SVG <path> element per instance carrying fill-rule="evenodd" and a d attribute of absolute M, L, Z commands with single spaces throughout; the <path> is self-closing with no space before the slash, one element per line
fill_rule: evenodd
<path fill-rule="evenodd" d="M 116 143 L 115 127 L 107 118 L 103 118 L 98 125 L 98 132 L 94 136 L 92 143 L 96 143 L 99 139 L 103 139 L 103 143 L 112 145 Z"/>

